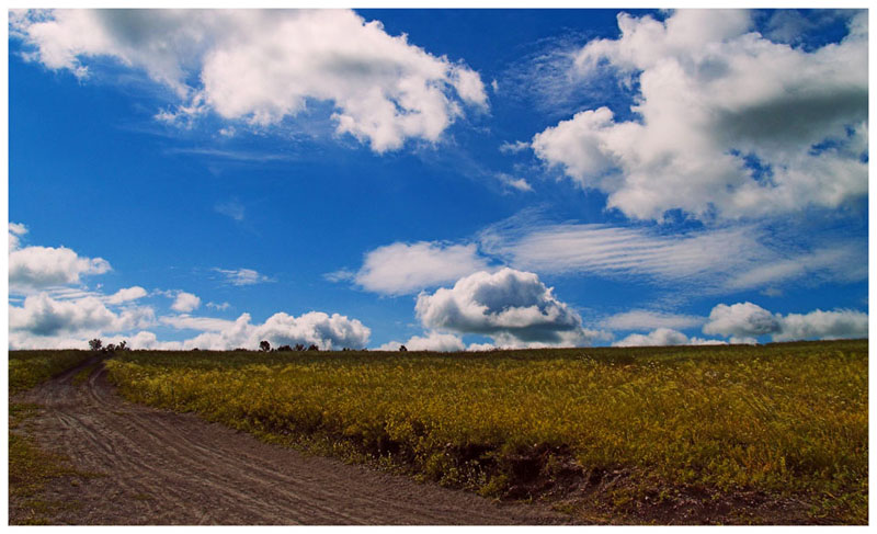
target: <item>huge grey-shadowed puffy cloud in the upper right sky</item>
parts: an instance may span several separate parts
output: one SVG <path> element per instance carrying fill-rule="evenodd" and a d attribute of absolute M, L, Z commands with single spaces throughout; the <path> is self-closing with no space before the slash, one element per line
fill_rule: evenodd
<path fill-rule="evenodd" d="M 548 166 L 629 217 L 709 219 L 835 208 L 867 194 L 867 12 L 812 52 L 751 30 L 748 12 L 618 15 L 577 72 L 639 82 L 633 120 L 581 111 L 534 136 Z"/>

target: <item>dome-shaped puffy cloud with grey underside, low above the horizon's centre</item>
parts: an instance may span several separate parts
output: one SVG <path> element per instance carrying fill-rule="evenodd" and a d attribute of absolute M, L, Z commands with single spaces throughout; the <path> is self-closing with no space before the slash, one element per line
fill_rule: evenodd
<path fill-rule="evenodd" d="M 500 345 L 586 344 L 597 336 L 536 274 L 509 268 L 421 293 L 415 311 L 425 328 L 486 334 Z"/>

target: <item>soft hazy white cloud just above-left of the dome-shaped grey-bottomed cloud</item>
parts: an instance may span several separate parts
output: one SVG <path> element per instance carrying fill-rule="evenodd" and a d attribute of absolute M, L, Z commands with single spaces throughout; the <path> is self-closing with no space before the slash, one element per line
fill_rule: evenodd
<path fill-rule="evenodd" d="M 485 269 L 475 245 L 396 242 L 366 253 L 354 281 L 371 292 L 405 295 Z"/>

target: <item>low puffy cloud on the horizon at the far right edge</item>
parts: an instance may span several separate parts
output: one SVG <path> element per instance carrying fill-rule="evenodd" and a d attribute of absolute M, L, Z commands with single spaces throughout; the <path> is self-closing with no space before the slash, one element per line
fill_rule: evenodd
<path fill-rule="evenodd" d="M 850 309 L 816 309 L 784 316 L 748 302 L 731 306 L 719 304 L 710 311 L 703 331 L 730 336 L 741 342 L 754 341 L 760 336 L 771 336 L 773 341 L 867 338 L 868 315 Z"/>

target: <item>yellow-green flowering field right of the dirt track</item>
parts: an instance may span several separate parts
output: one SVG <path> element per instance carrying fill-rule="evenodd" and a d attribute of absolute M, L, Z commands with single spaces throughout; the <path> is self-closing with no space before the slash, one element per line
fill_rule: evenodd
<path fill-rule="evenodd" d="M 105 365 L 129 400 L 583 521 L 867 522 L 866 340 Z"/>

